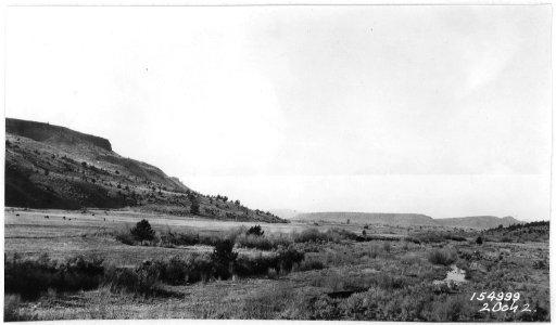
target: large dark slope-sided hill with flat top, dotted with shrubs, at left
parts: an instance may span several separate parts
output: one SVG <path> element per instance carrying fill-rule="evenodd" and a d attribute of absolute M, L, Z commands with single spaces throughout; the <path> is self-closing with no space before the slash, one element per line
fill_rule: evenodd
<path fill-rule="evenodd" d="M 112 151 L 109 140 L 64 127 L 5 119 L 5 206 L 123 208 L 177 216 L 283 222 L 227 197 L 192 191 L 149 164 Z"/>

